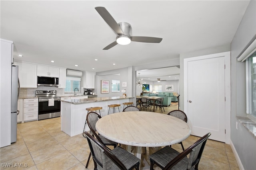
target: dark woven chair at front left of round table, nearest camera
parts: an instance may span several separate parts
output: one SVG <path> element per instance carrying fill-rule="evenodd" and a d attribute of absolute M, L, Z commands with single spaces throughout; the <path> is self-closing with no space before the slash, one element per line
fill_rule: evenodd
<path fill-rule="evenodd" d="M 131 154 L 130 152 L 116 147 L 113 150 L 108 150 L 107 147 L 102 145 L 88 132 L 84 132 L 94 162 L 94 170 L 109 170 L 121 169 L 132 170 L 136 168 L 139 170 L 140 159 Z"/>

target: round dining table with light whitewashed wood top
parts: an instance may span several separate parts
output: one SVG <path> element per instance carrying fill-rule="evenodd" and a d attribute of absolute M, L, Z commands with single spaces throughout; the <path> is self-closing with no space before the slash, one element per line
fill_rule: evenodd
<path fill-rule="evenodd" d="M 116 143 L 137 147 L 162 147 L 184 141 L 190 136 L 188 124 L 176 117 L 149 111 L 124 111 L 106 115 L 96 123 L 96 130 Z M 131 147 L 128 147 L 130 151 Z"/>

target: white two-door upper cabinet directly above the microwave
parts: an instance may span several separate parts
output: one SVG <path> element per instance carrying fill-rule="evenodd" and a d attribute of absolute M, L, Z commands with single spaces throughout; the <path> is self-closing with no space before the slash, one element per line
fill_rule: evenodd
<path fill-rule="evenodd" d="M 59 77 L 60 68 L 37 65 L 37 76 Z"/>

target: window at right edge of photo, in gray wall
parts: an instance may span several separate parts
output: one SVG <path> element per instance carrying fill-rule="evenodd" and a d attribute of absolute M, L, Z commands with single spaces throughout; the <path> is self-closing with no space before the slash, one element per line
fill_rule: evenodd
<path fill-rule="evenodd" d="M 256 53 L 246 59 L 247 113 L 256 117 Z"/>

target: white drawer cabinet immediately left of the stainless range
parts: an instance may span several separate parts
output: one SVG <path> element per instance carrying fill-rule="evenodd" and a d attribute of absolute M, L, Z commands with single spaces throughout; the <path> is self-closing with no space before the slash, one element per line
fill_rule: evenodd
<path fill-rule="evenodd" d="M 38 120 L 38 98 L 24 99 L 23 117 L 24 122 Z"/>

